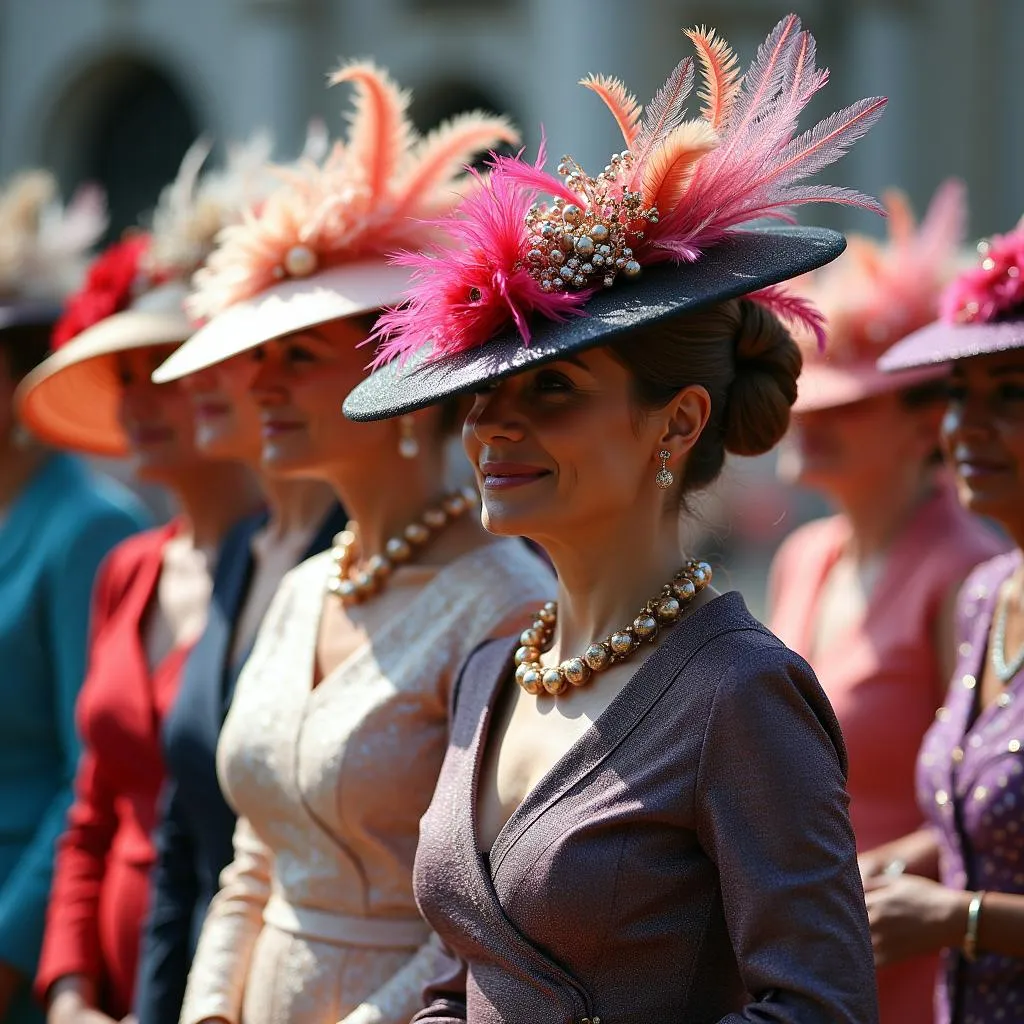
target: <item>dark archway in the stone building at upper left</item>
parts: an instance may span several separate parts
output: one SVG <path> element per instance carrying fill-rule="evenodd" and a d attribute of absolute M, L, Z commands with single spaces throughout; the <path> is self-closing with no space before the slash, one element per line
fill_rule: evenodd
<path fill-rule="evenodd" d="M 184 90 L 156 62 L 118 54 L 93 61 L 65 88 L 44 137 L 62 184 L 106 190 L 108 240 L 153 209 L 200 133 Z"/>

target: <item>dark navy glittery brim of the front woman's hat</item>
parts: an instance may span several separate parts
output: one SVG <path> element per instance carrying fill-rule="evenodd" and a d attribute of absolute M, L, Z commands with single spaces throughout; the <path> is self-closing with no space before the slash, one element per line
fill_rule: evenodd
<path fill-rule="evenodd" d="M 413 413 L 487 381 L 608 344 L 637 328 L 796 278 L 836 259 L 845 248 L 843 236 L 825 228 L 736 231 L 693 263 L 646 267 L 636 281 L 598 292 L 585 315 L 531 324 L 528 345 L 513 329 L 456 355 L 390 362 L 362 381 L 343 410 L 356 422 Z"/>

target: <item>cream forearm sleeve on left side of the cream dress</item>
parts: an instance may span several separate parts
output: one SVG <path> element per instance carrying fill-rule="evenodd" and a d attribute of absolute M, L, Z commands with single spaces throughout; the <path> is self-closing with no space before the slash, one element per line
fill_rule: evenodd
<path fill-rule="evenodd" d="M 273 855 L 245 818 L 234 829 L 234 859 L 220 876 L 193 961 L 181 1024 L 220 1017 L 242 1020 L 242 1001 L 253 946 L 270 898 Z"/>

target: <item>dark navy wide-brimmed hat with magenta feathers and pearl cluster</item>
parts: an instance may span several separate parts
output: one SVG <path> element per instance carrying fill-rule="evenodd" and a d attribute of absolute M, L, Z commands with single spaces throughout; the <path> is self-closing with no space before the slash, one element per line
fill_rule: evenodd
<path fill-rule="evenodd" d="M 835 259 L 842 236 L 752 225 L 812 202 L 883 212 L 866 196 L 805 179 L 857 141 L 886 100 L 859 100 L 797 135 L 827 76 L 796 15 L 778 23 L 742 78 L 713 31 L 687 36 L 705 76 L 699 117 L 686 118 L 692 57 L 646 109 L 615 79 L 584 79 L 611 111 L 623 152 L 593 176 L 570 157 L 546 173 L 543 146 L 536 164 L 494 158 L 445 221 L 450 245 L 396 258 L 412 285 L 381 316 L 376 373 L 346 398 L 346 416 L 408 413 L 739 296 L 823 338 L 820 314 L 774 286 Z"/>

